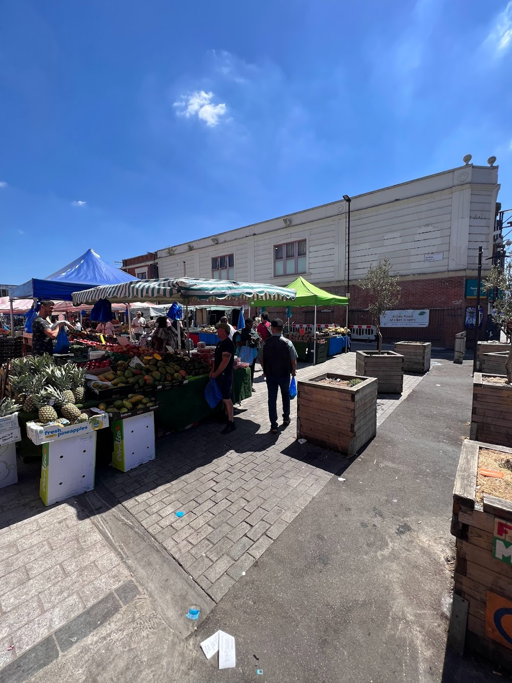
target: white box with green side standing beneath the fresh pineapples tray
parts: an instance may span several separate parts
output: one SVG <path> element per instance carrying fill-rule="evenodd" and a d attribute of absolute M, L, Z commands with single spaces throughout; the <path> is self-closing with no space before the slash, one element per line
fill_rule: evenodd
<path fill-rule="evenodd" d="M 96 432 L 42 445 L 40 497 L 53 505 L 94 488 Z"/>

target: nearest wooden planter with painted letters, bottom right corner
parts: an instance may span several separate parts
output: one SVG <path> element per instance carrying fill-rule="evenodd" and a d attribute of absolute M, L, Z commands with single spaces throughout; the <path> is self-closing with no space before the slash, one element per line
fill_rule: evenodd
<path fill-rule="evenodd" d="M 512 503 L 487 494 L 482 504 L 477 503 L 480 448 L 512 458 L 512 449 L 500 445 L 479 441 L 462 445 L 453 488 L 451 533 L 457 540 L 449 643 L 462 652 L 465 642 L 468 652 L 479 652 L 512 669 L 510 617 L 500 618 L 501 609 L 512 607 Z"/>

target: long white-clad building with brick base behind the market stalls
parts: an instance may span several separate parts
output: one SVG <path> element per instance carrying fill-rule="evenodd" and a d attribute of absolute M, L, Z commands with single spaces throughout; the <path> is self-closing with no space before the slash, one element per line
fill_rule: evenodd
<path fill-rule="evenodd" d="M 476 277 L 479 246 L 484 269 L 490 267 L 498 191 L 498 167 L 466 164 L 354 195 L 349 273 L 349 204 L 340 199 L 159 249 L 159 275 L 186 272 L 188 277 L 279 285 L 302 275 L 337 294 L 345 294 L 348 275 L 350 307 L 356 311 L 365 307 L 357 281 L 387 256 L 401 279 L 401 309 L 464 309 L 466 279 Z M 457 324 L 464 329 L 464 321 Z"/>

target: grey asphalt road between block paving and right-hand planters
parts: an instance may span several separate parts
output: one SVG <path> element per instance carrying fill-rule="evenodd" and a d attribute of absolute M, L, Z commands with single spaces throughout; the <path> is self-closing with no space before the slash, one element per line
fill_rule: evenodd
<path fill-rule="evenodd" d="M 507 680 L 483 660 L 445 656 L 472 378 L 468 361 L 436 362 L 365 451 L 341 460 L 345 482 L 332 477 L 188 638 L 182 680 Z M 218 671 L 199 649 L 218 628 L 236 639 L 236 669 Z"/>

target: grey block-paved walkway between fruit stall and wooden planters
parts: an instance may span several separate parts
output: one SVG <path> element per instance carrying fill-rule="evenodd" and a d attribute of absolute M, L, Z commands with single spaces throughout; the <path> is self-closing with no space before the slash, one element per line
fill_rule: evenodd
<path fill-rule="evenodd" d="M 301 367 L 298 380 L 324 372 L 355 372 L 355 353 Z M 259 367 L 259 366 L 258 366 Z M 406 375 L 403 393 L 379 395 L 378 425 L 423 376 Z M 158 441 L 156 460 L 128 473 L 100 474 L 102 484 L 218 602 L 347 462 L 296 441 L 291 425 L 270 434 L 266 385 L 256 371 L 237 430 L 204 423 Z M 279 402 L 278 402 L 279 407 Z M 184 512 L 178 518 L 175 513 Z"/>

